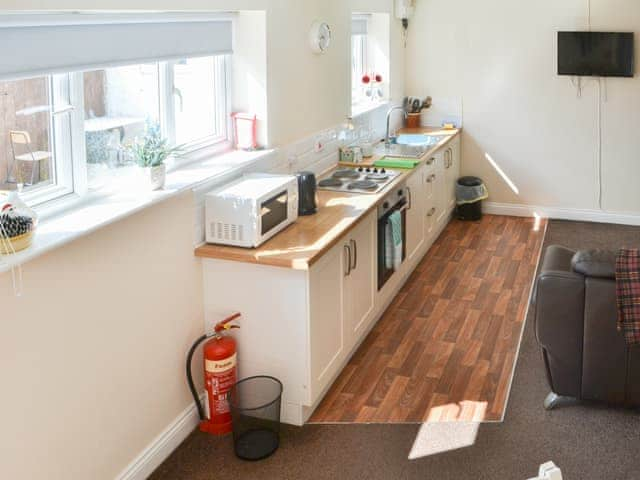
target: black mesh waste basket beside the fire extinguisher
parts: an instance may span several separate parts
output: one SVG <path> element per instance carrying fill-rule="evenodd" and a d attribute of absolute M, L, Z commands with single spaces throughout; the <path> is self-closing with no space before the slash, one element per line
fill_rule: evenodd
<path fill-rule="evenodd" d="M 280 445 L 282 382 L 268 376 L 249 377 L 229 391 L 233 448 L 238 458 L 262 460 Z"/>

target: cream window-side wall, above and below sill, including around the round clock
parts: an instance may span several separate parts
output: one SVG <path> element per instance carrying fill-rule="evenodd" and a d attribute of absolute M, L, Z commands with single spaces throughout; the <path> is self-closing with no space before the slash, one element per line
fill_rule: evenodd
<path fill-rule="evenodd" d="M 5 0 L 0 12 L 263 10 L 268 137 L 287 145 L 344 120 L 351 11 L 391 12 L 392 3 Z M 307 43 L 316 18 L 334 27 L 324 56 Z M 404 68 L 395 23 L 391 37 L 397 99 Z M 185 194 L 46 254 L 25 265 L 21 298 L 0 274 L 0 477 L 113 478 L 190 405 L 184 356 L 203 331 L 195 217 Z"/>

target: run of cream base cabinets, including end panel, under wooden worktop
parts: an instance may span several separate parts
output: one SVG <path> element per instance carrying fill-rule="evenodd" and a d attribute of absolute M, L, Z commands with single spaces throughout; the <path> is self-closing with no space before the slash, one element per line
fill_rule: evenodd
<path fill-rule="evenodd" d="M 207 328 L 242 313 L 233 332 L 238 376 L 282 381 L 283 422 L 304 424 L 445 228 L 459 169 L 459 143 L 452 142 L 407 176 L 407 259 L 383 290 L 377 289 L 375 208 L 308 268 L 203 259 Z"/>

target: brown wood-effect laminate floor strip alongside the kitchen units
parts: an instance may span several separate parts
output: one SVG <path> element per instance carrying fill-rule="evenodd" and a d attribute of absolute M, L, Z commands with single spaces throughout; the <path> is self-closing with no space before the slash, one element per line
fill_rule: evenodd
<path fill-rule="evenodd" d="M 545 220 L 454 220 L 309 423 L 500 421 Z"/>

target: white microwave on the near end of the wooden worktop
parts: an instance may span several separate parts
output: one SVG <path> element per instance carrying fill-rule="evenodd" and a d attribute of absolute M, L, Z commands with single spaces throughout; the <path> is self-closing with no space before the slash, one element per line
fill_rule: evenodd
<path fill-rule="evenodd" d="M 206 195 L 207 243 L 253 248 L 298 218 L 292 175 L 252 173 Z"/>

